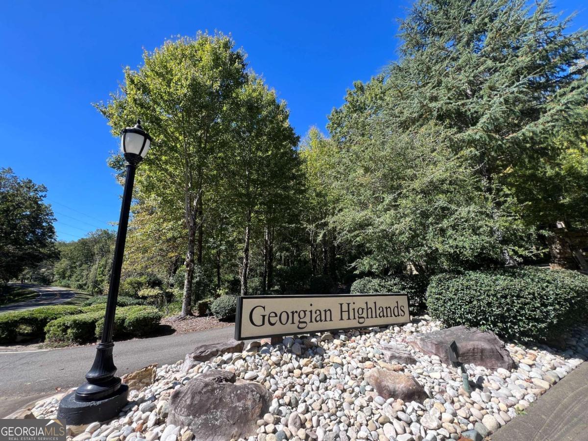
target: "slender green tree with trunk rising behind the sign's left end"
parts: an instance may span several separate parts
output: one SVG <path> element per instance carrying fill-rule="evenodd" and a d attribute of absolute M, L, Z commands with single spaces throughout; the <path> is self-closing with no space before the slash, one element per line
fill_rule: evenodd
<path fill-rule="evenodd" d="M 247 295 L 253 223 L 259 225 L 262 220 L 264 202 L 275 205 L 289 193 L 287 188 L 295 179 L 298 136 L 288 122 L 286 103 L 279 102 L 275 92 L 254 75 L 249 75 L 235 105 L 238 119 L 230 132 L 234 148 L 223 164 L 227 193 L 238 208 L 238 225 L 244 230 L 241 295 Z"/>

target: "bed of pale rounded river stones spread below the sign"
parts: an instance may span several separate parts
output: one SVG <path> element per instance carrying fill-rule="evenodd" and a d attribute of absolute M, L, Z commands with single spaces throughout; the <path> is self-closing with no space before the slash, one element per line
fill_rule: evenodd
<path fill-rule="evenodd" d="M 415 318 L 410 325 L 386 329 L 291 336 L 273 344 L 254 342 L 241 352 L 212 356 L 188 369 L 183 360 L 164 365 L 156 369 L 152 385 L 129 392 L 129 404 L 118 418 L 93 423 L 92 428 L 98 426 L 86 441 L 198 441 L 208 439 L 199 437 L 208 434 L 199 434 L 196 426 L 207 425 L 222 426 L 219 430 L 227 433 L 219 432 L 218 439 L 234 441 L 445 441 L 460 436 L 465 441 L 466 433 L 475 436 L 472 430 L 486 436 L 489 429 L 510 424 L 538 396 L 552 393 L 533 379 L 549 385 L 554 376 L 561 380 L 582 363 L 588 348 L 588 327 L 583 325 L 572 331 L 561 351 L 509 343 L 504 349 L 517 363 L 526 359 L 533 365 L 519 363 L 512 370 L 493 370 L 466 363 L 463 369 L 477 385 L 468 396 L 460 387 L 457 369 L 440 356 L 419 352 L 407 343 L 412 336 L 439 331 L 440 325 L 426 317 Z M 381 349 L 385 345 L 410 353 L 416 362 L 396 365 L 394 359 L 387 361 Z M 419 400 L 396 396 L 404 382 L 417 385 Z M 199 387 L 203 386 L 193 386 L 196 383 L 209 385 L 210 392 L 202 394 Z M 379 383 L 383 385 L 380 390 Z M 265 395 L 241 399 L 220 392 L 241 386 L 255 386 L 257 394 Z M 387 395 L 383 392 L 386 387 L 395 392 Z M 192 400 L 193 395 L 198 397 Z M 177 396 L 201 413 L 190 416 L 180 411 L 173 405 Z M 260 402 L 266 407 L 252 412 Z M 29 407 L 35 417 L 52 418 L 58 405 L 55 396 Z M 243 413 L 225 412 L 232 407 Z M 205 424 L 196 421 L 197 417 Z M 233 424 L 248 426 L 248 432 L 233 437 L 226 429 Z M 171 426 L 175 427 L 167 429 Z M 68 426 L 66 435 L 66 441 L 73 441 L 78 433 Z"/>

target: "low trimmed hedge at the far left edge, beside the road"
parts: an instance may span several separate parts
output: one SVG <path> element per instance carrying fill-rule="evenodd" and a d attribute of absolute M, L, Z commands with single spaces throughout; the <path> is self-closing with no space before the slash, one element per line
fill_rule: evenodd
<path fill-rule="evenodd" d="M 18 336 L 43 338 L 47 323 L 82 311 L 79 306 L 55 305 L 0 314 L 0 342 L 12 343 Z"/>

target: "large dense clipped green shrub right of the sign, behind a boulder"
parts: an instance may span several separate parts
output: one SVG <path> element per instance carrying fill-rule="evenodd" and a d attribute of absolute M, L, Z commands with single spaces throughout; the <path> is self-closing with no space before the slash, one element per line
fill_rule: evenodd
<path fill-rule="evenodd" d="M 534 267 L 439 275 L 427 289 L 427 306 L 447 326 L 544 340 L 588 318 L 588 276 Z"/>

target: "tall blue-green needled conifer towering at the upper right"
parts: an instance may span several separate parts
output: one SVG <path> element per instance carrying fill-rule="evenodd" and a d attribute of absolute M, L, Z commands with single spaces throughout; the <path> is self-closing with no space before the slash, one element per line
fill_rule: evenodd
<path fill-rule="evenodd" d="M 391 167 L 395 167 L 392 161 L 408 159 L 400 149 L 402 143 L 405 148 L 428 150 L 433 155 L 431 165 L 436 164 L 429 173 L 442 167 L 443 162 L 455 166 L 455 173 L 462 173 L 465 181 L 453 188 L 455 202 L 461 201 L 465 210 L 462 216 L 482 205 L 479 211 L 471 212 L 472 218 L 464 217 L 463 223 L 456 223 L 457 218 L 453 223 L 440 223 L 450 228 L 447 232 L 453 229 L 456 238 L 460 226 L 470 226 L 466 229 L 469 233 L 461 234 L 473 242 L 462 251 L 469 249 L 467 255 L 482 258 L 477 252 L 470 253 L 479 248 L 475 244 L 493 244 L 478 265 L 495 260 L 496 243 L 507 265 L 534 255 L 537 248 L 533 236 L 543 220 L 529 216 L 530 199 L 517 192 L 509 175 L 513 170 L 524 174 L 541 161 L 552 161 L 559 155 L 553 148 L 554 137 L 566 131 L 578 133 L 577 128 L 586 124 L 587 66 L 579 61 L 586 58 L 588 34 L 569 32 L 569 23 L 569 19 L 562 21 L 553 14 L 547 1 L 530 7 L 522 0 L 415 2 L 400 24 L 403 44 L 399 60 L 372 81 L 356 83 L 348 91 L 345 104 L 330 116 L 329 130 L 342 156 L 355 159 L 358 155 L 351 151 L 364 149 L 365 158 L 359 159 L 363 159 L 366 170 L 373 170 L 382 161 L 380 155 L 395 152 L 385 163 Z M 407 133 L 417 136 L 422 130 L 440 130 L 436 136 L 442 139 L 431 138 L 427 148 L 424 144 L 415 146 L 417 139 L 404 138 Z M 435 148 L 438 142 L 447 148 Z M 393 147 L 396 143 L 401 144 Z M 428 160 L 416 156 L 412 159 L 415 162 L 405 161 L 405 166 L 415 172 L 412 178 L 403 173 L 400 181 L 406 178 L 408 188 L 422 188 L 419 182 L 428 182 L 422 181 L 426 176 L 422 164 Z M 353 163 L 347 165 L 356 171 Z M 457 183 L 451 174 L 446 178 L 449 185 L 439 182 L 439 188 L 431 190 L 443 193 Z M 477 195 L 480 188 L 483 195 Z M 376 201 L 390 198 L 390 217 L 399 213 L 395 199 L 402 193 L 410 196 L 406 191 L 389 192 L 379 185 L 372 191 Z M 353 190 L 350 193 L 353 196 Z M 427 197 L 419 203 L 416 195 L 418 192 L 415 198 L 407 199 L 412 199 L 408 206 L 413 212 L 422 216 L 437 213 L 429 213 L 429 209 L 438 199 Z M 347 201 L 349 206 L 349 198 Z M 416 219 L 410 211 L 403 216 L 406 225 Z M 369 225 L 377 225 L 375 219 L 379 218 L 376 216 Z M 483 222 L 485 228 L 472 228 L 477 222 Z M 487 237 L 489 233 L 494 237 Z M 435 244 L 435 236 L 431 236 L 432 248 Z M 359 240 L 356 245 L 365 243 Z M 469 260 L 461 256 L 456 260 L 458 266 Z"/>

